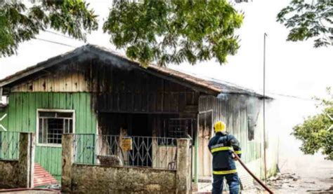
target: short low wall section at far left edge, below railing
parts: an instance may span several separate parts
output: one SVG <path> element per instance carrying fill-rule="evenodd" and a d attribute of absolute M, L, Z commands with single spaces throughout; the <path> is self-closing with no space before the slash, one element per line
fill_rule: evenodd
<path fill-rule="evenodd" d="M 18 187 L 18 160 L 0 160 L 0 188 Z"/>

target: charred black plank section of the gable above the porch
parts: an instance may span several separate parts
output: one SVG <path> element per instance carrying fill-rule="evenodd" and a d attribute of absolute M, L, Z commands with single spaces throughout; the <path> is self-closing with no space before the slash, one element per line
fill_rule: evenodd
<path fill-rule="evenodd" d="M 90 70 L 100 112 L 179 113 L 198 102 L 198 92 L 140 69 L 94 60 Z"/>

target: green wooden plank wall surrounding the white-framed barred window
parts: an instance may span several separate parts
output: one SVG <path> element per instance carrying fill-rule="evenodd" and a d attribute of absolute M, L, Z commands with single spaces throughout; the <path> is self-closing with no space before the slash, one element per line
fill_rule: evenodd
<path fill-rule="evenodd" d="M 75 110 L 75 133 L 95 134 L 96 115 L 91 109 L 89 92 L 12 92 L 7 113 L 1 124 L 13 132 L 36 132 L 37 109 Z M 61 175 L 61 148 L 37 146 L 35 162 L 41 164 L 53 176 Z"/>

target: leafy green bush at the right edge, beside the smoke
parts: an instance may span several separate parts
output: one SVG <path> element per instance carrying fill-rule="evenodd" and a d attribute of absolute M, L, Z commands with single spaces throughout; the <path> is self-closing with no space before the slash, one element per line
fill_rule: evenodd
<path fill-rule="evenodd" d="M 314 154 L 321 151 L 327 160 L 333 160 L 333 95 L 327 89 L 329 98 L 320 99 L 322 113 L 309 116 L 303 124 L 296 125 L 292 134 L 302 141 L 301 151 Z"/>

